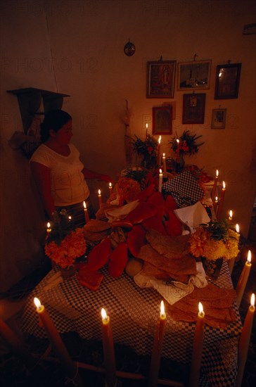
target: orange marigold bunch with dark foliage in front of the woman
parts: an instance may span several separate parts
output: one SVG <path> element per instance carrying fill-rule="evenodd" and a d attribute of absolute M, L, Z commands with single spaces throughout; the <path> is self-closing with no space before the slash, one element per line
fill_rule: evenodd
<path fill-rule="evenodd" d="M 54 214 L 53 227 L 46 236 L 44 250 L 46 255 L 63 269 L 72 266 L 76 258 L 85 254 L 87 244 L 83 229 L 74 229 L 65 210 L 59 215 Z"/>

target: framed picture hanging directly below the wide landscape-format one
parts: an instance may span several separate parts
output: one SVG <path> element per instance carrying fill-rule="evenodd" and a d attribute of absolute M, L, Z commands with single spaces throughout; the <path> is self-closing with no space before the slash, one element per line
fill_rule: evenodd
<path fill-rule="evenodd" d="M 203 124 L 205 121 L 205 93 L 184 94 L 183 124 Z"/>

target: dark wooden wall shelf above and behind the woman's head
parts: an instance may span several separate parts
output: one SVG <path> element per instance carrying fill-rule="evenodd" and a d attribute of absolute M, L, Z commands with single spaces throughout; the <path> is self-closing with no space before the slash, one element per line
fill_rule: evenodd
<path fill-rule="evenodd" d="M 55 91 L 37 89 L 36 87 L 7 90 L 7 92 L 14 94 L 18 98 L 25 134 L 27 134 L 27 129 L 30 128 L 35 115 L 45 114 L 53 109 L 61 109 L 63 106 L 63 98 L 70 96 L 68 94 L 56 93 Z M 44 112 L 38 112 L 41 100 L 44 103 Z"/>

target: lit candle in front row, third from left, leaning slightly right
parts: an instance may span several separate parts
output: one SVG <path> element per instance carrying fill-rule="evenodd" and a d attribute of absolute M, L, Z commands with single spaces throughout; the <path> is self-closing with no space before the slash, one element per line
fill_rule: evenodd
<path fill-rule="evenodd" d="M 161 301 L 160 315 L 158 319 L 158 324 L 155 329 L 155 338 L 154 338 L 153 351 L 151 356 L 151 371 L 148 378 L 148 387 L 157 386 L 158 384 L 158 372 L 159 372 L 161 353 L 162 353 L 162 343 L 165 336 L 165 323 L 166 323 L 165 305 L 163 301 Z"/>

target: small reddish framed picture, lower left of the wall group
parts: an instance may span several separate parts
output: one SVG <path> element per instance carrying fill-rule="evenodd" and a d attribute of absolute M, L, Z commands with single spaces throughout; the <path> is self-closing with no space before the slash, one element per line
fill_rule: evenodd
<path fill-rule="evenodd" d="M 172 106 L 153 108 L 152 134 L 172 134 Z"/>

